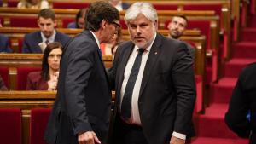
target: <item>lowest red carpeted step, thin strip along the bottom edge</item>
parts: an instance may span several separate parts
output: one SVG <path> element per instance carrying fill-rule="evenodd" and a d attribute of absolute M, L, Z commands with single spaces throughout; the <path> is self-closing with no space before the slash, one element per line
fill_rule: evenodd
<path fill-rule="evenodd" d="M 196 137 L 192 139 L 191 144 L 248 144 L 247 139 L 233 138 L 212 138 L 212 137 Z"/>

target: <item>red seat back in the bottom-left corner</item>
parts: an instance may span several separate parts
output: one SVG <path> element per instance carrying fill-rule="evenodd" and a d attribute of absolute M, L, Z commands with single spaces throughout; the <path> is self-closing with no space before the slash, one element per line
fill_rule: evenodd
<path fill-rule="evenodd" d="M 21 144 L 19 108 L 0 108 L 0 141 L 4 144 Z"/>

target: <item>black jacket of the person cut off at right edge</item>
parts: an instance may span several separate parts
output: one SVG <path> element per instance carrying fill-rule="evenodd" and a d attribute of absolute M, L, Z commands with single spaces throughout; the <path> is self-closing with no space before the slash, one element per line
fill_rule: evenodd
<path fill-rule="evenodd" d="M 249 137 L 256 143 L 256 63 L 244 68 L 236 82 L 225 122 L 230 130 L 241 137 Z M 250 120 L 247 113 L 251 112 Z"/>

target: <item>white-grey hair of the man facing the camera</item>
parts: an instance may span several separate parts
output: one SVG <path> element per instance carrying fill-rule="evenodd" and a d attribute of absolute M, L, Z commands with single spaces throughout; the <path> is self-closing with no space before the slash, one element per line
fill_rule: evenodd
<path fill-rule="evenodd" d="M 151 3 L 137 2 L 133 3 L 125 13 L 125 23 L 136 19 L 138 14 L 143 14 L 148 20 L 155 22 L 158 20 L 157 12 Z"/>

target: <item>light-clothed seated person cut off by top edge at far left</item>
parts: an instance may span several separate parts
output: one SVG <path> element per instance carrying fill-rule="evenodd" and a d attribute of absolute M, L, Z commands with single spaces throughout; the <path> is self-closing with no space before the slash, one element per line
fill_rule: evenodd
<path fill-rule="evenodd" d="M 49 9 L 47 0 L 21 0 L 17 8 L 19 9 Z"/>

